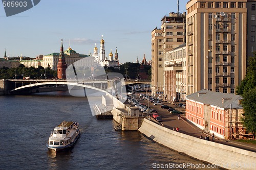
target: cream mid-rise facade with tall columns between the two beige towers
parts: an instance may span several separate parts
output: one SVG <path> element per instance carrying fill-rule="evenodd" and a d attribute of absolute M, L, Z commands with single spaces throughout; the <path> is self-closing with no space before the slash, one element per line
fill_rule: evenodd
<path fill-rule="evenodd" d="M 165 53 L 164 96 L 169 101 L 186 98 L 186 43 Z"/>

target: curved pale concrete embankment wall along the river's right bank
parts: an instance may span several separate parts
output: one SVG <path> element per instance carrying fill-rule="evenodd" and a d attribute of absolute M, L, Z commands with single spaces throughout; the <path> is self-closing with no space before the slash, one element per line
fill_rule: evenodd
<path fill-rule="evenodd" d="M 227 169 L 256 169 L 256 153 L 176 132 L 143 119 L 139 131 L 164 146 Z"/>

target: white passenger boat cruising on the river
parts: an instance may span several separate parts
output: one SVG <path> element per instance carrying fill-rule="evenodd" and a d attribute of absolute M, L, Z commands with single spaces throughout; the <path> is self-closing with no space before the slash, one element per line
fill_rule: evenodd
<path fill-rule="evenodd" d="M 63 121 L 49 137 L 47 147 L 55 152 L 72 147 L 80 135 L 79 124 L 77 122 Z"/>

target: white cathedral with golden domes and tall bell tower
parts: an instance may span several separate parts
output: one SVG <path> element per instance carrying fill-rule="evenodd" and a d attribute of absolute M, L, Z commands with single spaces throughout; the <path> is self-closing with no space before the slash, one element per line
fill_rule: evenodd
<path fill-rule="evenodd" d="M 114 67 L 114 68 L 120 69 L 117 49 L 115 52 L 115 56 L 112 53 L 112 49 L 110 50 L 109 59 L 105 56 L 105 41 L 103 40 L 103 36 L 100 40 L 99 54 L 98 54 L 98 48 L 95 44 L 92 56 L 95 58 L 95 62 L 99 63 L 101 66 Z"/>

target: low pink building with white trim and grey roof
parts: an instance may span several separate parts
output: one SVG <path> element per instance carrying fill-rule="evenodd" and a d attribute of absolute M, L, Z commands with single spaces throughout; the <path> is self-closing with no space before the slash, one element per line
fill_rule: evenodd
<path fill-rule="evenodd" d="M 186 118 L 206 132 L 225 139 L 247 137 L 240 122 L 240 95 L 202 89 L 186 96 Z"/>

